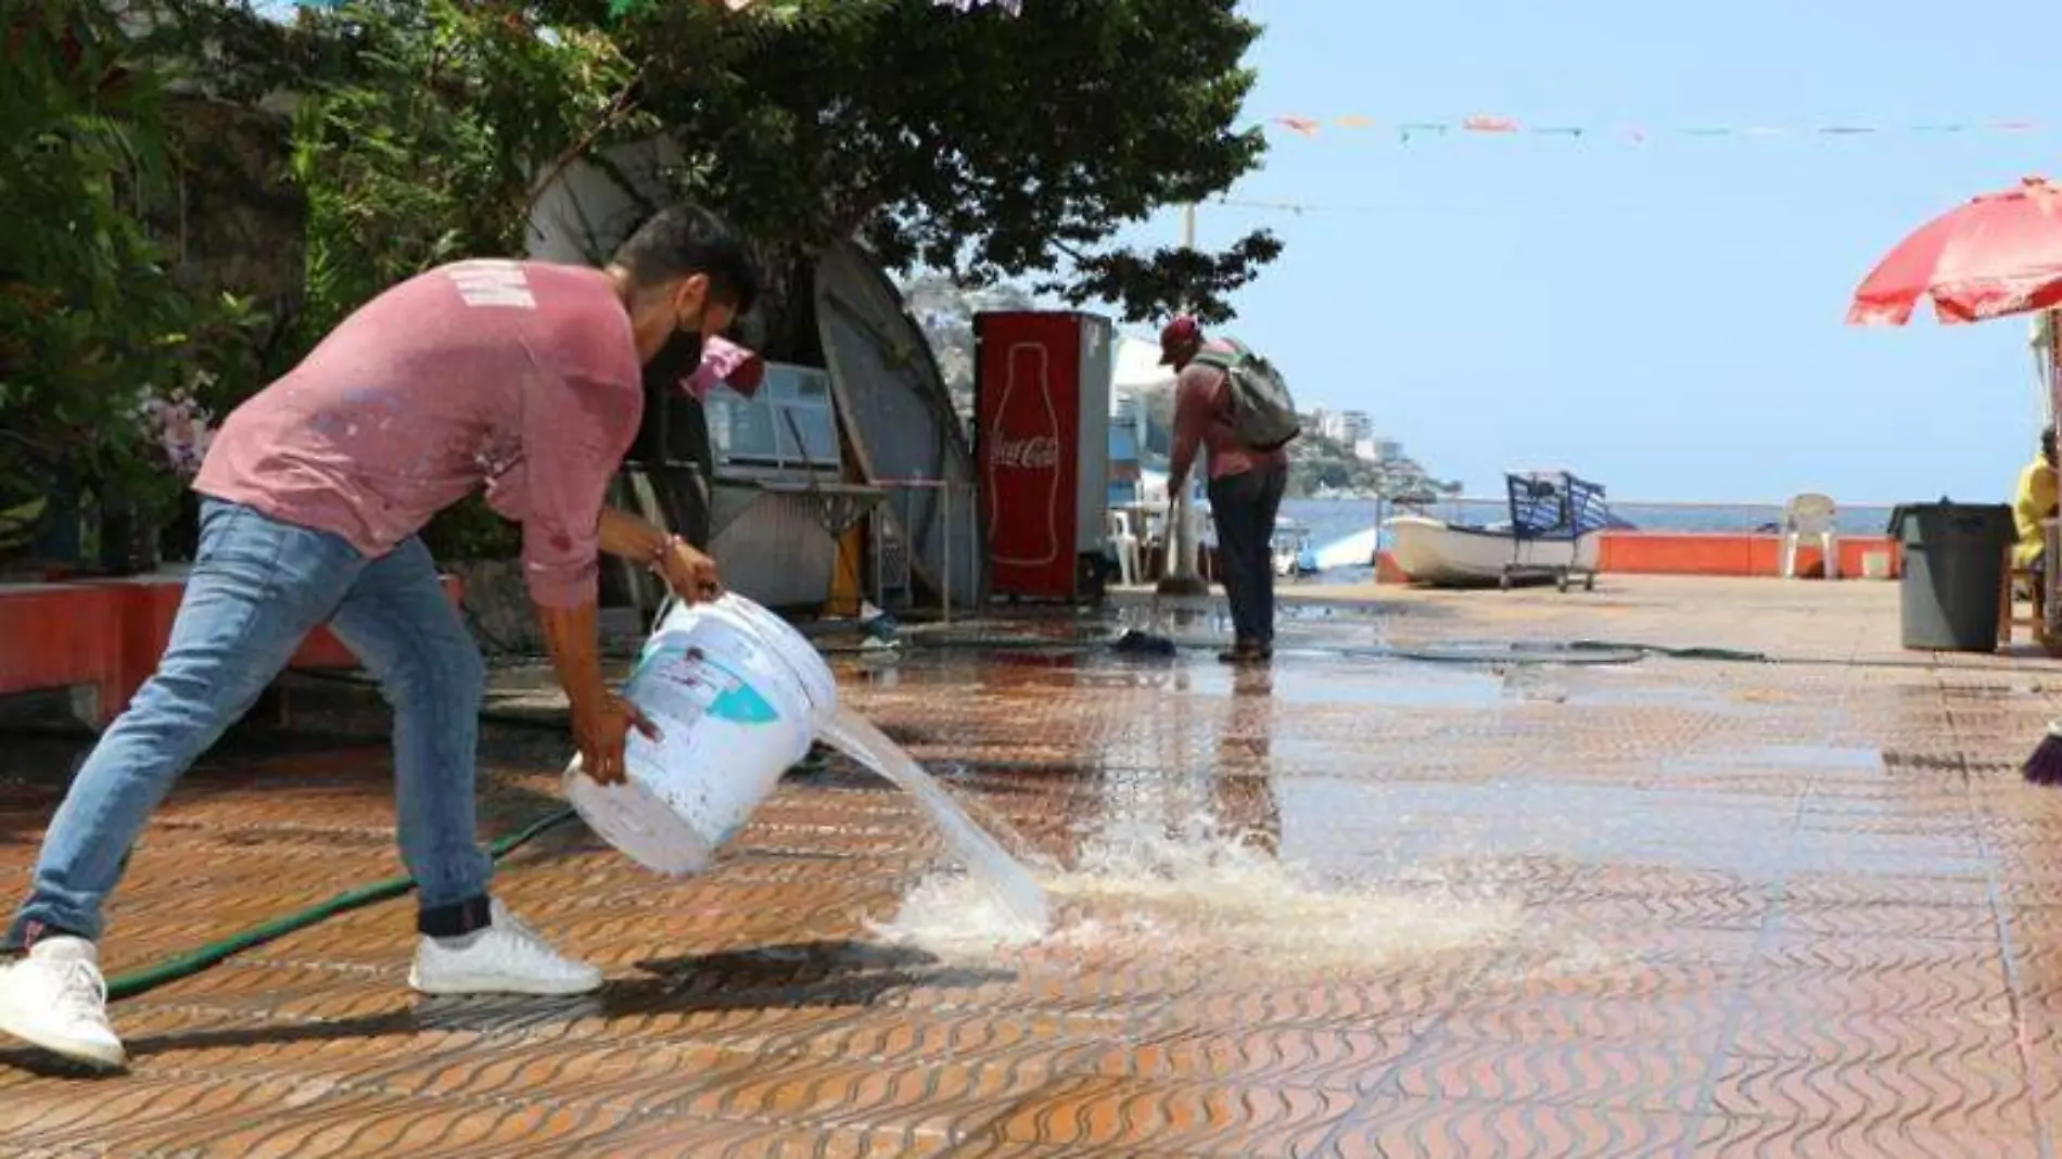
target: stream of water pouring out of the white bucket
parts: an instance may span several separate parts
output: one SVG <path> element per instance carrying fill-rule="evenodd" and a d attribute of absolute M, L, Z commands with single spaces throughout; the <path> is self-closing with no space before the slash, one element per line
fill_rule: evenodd
<path fill-rule="evenodd" d="M 971 891 L 967 901 L 975 907 L 973 916 L 988 930 L 990 940 L 1027 942 L 1052 928 L 1045 895 L 1037 881 L 986 829 L 975 825 L 944 792 L 944 786 L 903 753 L 901 744 L 889 740 L 850 709 L 839 711 L 819 738 L 899 786 L 930 815 L 967 866 L 959 881 L 967 883 Z"/>

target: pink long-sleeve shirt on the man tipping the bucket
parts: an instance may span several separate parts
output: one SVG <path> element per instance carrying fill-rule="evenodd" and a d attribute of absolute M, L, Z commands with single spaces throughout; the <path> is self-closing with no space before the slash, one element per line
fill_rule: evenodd
<path fill-rule="evenodd" d="M 532 598 L 577 606 L 641 382 L 600 270 L 458 262 L 381 293 L 235 408 L 194 491 L 379 557 L 485 485 L 522 522 Z"/>

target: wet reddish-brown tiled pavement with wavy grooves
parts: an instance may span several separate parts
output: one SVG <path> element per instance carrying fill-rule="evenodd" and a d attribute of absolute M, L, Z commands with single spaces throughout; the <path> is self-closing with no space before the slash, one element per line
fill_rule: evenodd
<path fill-rule="evenodd" d="M 934 955 L 878 924 L 938 841 L 833 761 L 695 881 L 577 827 L 505 862 L 509 903 L 606 965 L 596 998 L 417 1000 L 408 901 L 359 909 L 120 1002 L 128 1077 L 0 1054 L 0 1153 L 2054 1155 L 2062 794 L 2015 765 L 2062 666 L 1895 629 L 1891 586 L 1617 580 L 1301 608 L 1268 674 L 1021 639 L 841 660 L 852 705 L 1062 866 L 1204 808 L 1359 901 L 1243 942 L 1227 895 Z M 1511 639 L 1784 662 L 1384 658 Z M 396 872 L 379 738 L 315 720 L 181 786 L 111 971 Z M 74 751 L 8 740 L 6 881 Z M 491 730 L 495 831 L 555 806 L 561 757 Z M 1439 914 L 1507 920 L 1412 924 Z"/>

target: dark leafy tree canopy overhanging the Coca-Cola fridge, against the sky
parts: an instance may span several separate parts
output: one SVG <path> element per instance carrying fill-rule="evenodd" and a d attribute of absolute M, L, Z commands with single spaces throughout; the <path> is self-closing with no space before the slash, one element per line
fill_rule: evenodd
<path fill-rule="evenodd" d="M 864 239 L 893 268 L 961 285 L 1033 278 L 1130 322 L 1231 295 L 1281 254 L 1136 252 L 1116 235 L 1258 167 L 1239 128 L 1260 27 L 1235 0 L 546 0 L 606 29 L 631 101 L 689 151 L 678 192 L 806 254 Z"/>

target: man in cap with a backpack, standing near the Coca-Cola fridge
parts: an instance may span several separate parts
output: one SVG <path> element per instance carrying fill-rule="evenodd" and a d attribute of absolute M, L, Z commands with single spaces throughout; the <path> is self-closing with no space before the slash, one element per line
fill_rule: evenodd
<path fill-rule="evenodd" d="M 1285 448 L 1301 429 L 1295 402 L 1274 367 L 1239 342 L 1206 342 L 1190 316 L 1161 330 L 1161 365 L 1179 375 L 1169 499 L 1188 487 L 1196 450 L 1210 454 L 1210 520 L 1233 625 L 1219 660 L 1266 662 L 1274 656 L 1274 516 L 1289 487 Z"/>

